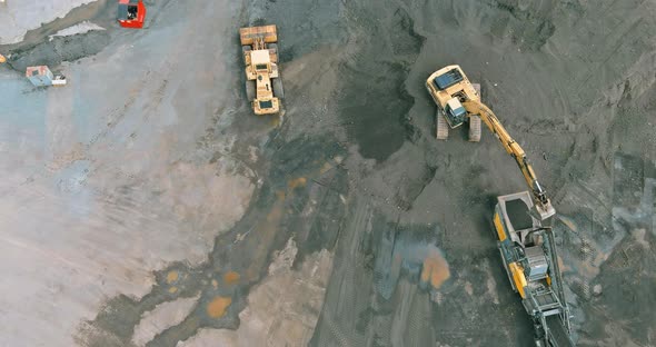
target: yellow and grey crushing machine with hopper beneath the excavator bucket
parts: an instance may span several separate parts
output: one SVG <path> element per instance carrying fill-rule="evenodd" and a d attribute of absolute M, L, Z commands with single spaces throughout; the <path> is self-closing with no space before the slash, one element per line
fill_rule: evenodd
<path fill-rule="evenodd" d="M 554 234 L 528 214 L 531 205 L 528 191 L 497 198 L 497 246 L 508 280 L 533 318 L 536 346 L 574 346 Z"/>

